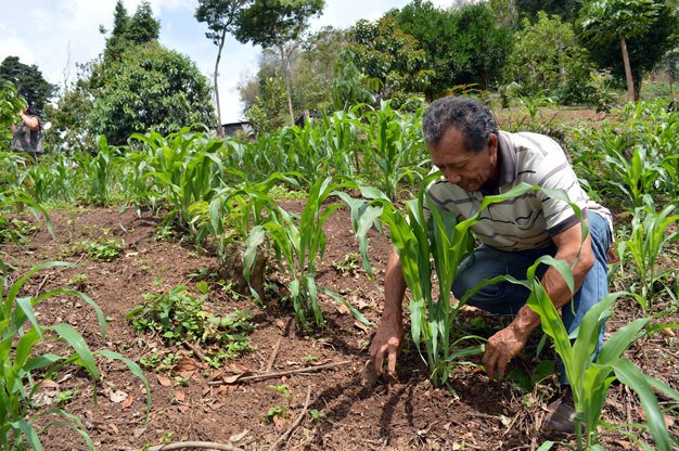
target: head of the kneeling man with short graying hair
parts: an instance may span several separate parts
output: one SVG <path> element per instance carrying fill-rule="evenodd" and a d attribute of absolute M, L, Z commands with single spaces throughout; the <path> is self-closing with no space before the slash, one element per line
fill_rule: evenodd
<path fill-rule="evenodd" d="M 466 98 L 439 99 L 424 112 L 424 140 L 444 177 L 465 191 L 496 180 L 498 125 L 486 106 Z"/>

